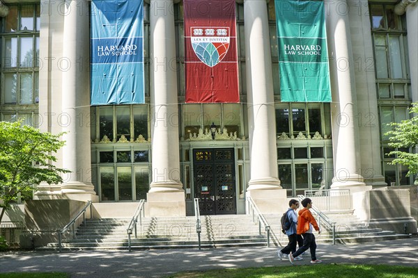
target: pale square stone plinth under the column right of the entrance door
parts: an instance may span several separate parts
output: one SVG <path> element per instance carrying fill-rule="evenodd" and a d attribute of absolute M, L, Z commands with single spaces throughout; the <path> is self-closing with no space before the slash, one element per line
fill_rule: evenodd
<path fill-rule="evenodd" d="M 247 190 L 261 213 L 281 213 L 288 209 L 288 199 L 286 189 L 253 189 Z"/>

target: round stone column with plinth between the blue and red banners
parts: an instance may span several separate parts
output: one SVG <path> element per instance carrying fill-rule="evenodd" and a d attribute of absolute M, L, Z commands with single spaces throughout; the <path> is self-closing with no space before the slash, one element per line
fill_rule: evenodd
<path fill-rule="evenodd" d="M 151 216 L 185 215 L 180 181 L 176 40 L 173 0 L 150 1 L 150 95 L 153 181 L 147 194 Z"/>

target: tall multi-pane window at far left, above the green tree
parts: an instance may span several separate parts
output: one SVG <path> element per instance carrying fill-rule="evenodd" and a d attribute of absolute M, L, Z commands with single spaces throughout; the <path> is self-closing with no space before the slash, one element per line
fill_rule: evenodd
<path fill-rule="evenodd" d="M 1 18 L 0 120 L 37 125 L 40 6 L 8 5 Z"/>

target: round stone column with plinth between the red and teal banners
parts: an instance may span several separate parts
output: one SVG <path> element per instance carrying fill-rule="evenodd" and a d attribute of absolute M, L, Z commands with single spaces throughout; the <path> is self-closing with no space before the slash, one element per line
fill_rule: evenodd
<path fill-rule="evenodd" d="M 272 60 L 266 1 L 245 0 L 245 63 L 249 122 L 251 179 L 247 194 L 262 213 L 274 212 L 280 190 L 277 169 L 276 124 L 274 111 Z"/>

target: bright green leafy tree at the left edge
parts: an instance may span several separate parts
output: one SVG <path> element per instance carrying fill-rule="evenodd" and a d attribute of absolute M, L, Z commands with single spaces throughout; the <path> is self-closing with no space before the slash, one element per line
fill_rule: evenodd
<path fill-rule="evenodd" d="M 53 135 L 18 122 L 0 122 L 0 222 L 6 209 L 20 197 L 31 197 L 36 185 L 61 183 L 70 171 L 52 165 L 63 147 L 63 133 Z"/>

